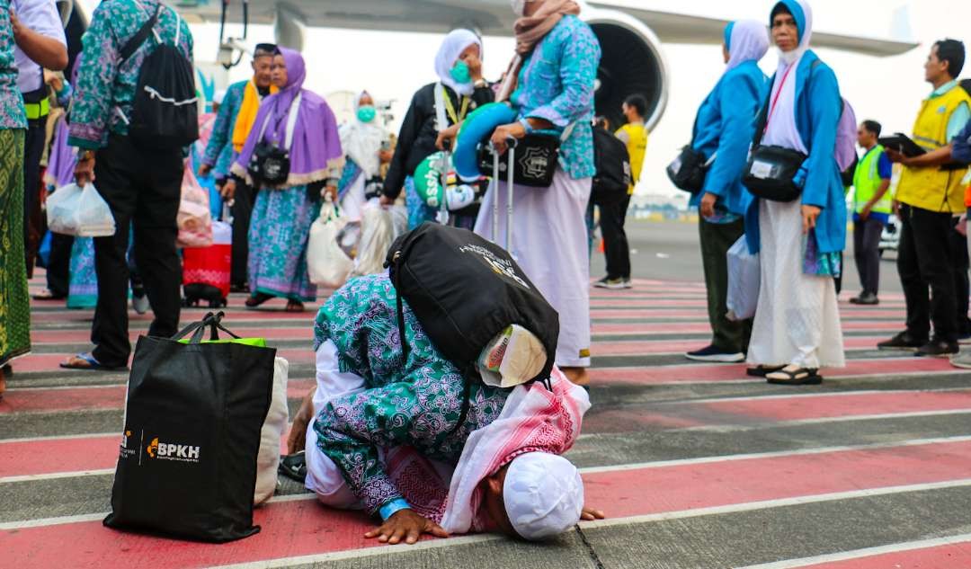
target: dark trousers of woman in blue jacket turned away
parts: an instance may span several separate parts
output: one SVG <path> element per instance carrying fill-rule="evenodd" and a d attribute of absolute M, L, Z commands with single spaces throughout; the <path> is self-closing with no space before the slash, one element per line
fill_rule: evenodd
<path fill-rule="evenodd" d="M 712 325 L 712 346 L 723 351 L 749 351 L 752 320 L 740 322 L 725 318 L 728 314 L 728 250 L 745 235 L 745 220 L 731 223 L 698 221 L 701 239 L 701 263 L 708 289 L 708 321 Z"/>

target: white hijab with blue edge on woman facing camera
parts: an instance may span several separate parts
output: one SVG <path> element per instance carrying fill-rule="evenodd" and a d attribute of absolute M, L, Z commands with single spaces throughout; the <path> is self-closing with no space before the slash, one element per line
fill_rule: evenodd
<path fill-rule="evenodd" d="M 798 5 L 802 9 L 804 22 L 799 28 L 799 47 L 791 51 L 779 50 L 779 68 L 769 97 L 770 117 L 762 144 L 808 154 L 809 150 L 795 122 L 795 85 L 798 83 L 799 62 L 809 50 L 809 41 L 813 37 L 813 9 L 807 0 L 784 0 L 780 4 L 785 4 L 790 11 L 794 5 Z M 799 21 L 799 17 L 796 17 L 796 21 Z M 773 101 L 776 101 L 775 107 L 772 106 Z"/>

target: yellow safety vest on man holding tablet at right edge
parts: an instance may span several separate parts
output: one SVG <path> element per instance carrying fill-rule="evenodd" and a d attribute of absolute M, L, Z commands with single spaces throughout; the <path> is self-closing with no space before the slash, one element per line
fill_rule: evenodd
<path fill-rule="evenodd" d="M 948 122 L 961 103 L 971 105 L 960 86 L 939 97 L 924 100 L 921 114 L 914 123 L 914 142 L 926 151 L 936 151 L 948 144 Z M 961 179 L 966 170 L 941 170 L 905 167 L 897 186 L 896 199 L 931 212 L 957 213 L 965 210 L 964 186 Z"/>

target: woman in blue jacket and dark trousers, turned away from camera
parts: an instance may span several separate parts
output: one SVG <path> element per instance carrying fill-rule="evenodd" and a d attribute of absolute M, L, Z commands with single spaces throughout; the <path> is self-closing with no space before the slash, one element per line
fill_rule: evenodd
<path fill-rule="evenodd" d="M 765 24 L 754 20 L 731 22 L 725 27 L 725 71 L 719 83 L 698 109 L 691 146 L 705 160 L 714 161 L 702 191 L 691 198 L 699 208 L 698 233 L 701 259 L 708 288 L 708 319 L 712 343 L 687 352 L 696 361 L 740 363 L 745 361 L 752 322 L 736 322 L 728 312 L 728 249 L 745 234 L 745 211 L 752 194 L 742 185 L 749 145 L 755 133 L 755 117 L 765 99 L 767 78 L 758 60 L 769 50 Z"/>

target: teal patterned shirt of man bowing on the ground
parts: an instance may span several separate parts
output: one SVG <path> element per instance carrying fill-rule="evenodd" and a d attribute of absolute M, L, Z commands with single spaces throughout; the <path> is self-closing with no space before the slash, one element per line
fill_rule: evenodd
<path fill-rule="evenodd" d="M 368 512 L 402 495 L 385 471 L 379 449 L 402 445 L 457 463 L 473 431 L 502 413 L 509 391 L 473 382 L 468 416 L 461 414 L 464 380 L 435 349 L 418 318 L 404 305 L 411 350 L 403 361 L 394 286 L 387 274 L 353 279 L 323 305 L 315 350 L 330 340 L 341 372 L 364 379 L 366 389 L 331 400 L 314 423 L 318 447 L 341 469 Z"/>

